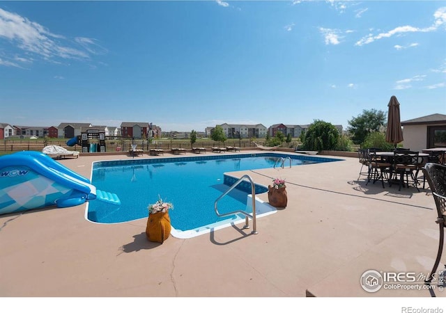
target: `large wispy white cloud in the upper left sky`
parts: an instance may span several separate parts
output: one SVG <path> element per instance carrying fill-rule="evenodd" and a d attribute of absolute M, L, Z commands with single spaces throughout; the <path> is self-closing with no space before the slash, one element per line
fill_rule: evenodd
<path fill-rule="evenodd" d="M 70 40 L 52 33 L 44 26 L 26 17 L 0 8 L 0 40 L 7 40 L 26 54 L 38 56 L 45 61 L 60 63 L 57 58 L 89 60 L 92 54 L 103 54 L 107 50 L 91 38 Z M 15 56 L 16 61 L 32 62 L 33 58 Z M 4 63 L 3 63 L 4 65 Z"/>

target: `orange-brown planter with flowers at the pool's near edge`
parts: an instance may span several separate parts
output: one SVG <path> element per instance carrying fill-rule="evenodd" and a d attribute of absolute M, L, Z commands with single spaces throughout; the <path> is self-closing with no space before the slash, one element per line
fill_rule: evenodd
<path fill-rule="evenodd" d="M 149 241 L 163 243 L 169 237 L 171 231 L 169 209 L 173 208 L 173 204 L 164 202 L 161 198 L 147 207 L 146 236 Z"/>

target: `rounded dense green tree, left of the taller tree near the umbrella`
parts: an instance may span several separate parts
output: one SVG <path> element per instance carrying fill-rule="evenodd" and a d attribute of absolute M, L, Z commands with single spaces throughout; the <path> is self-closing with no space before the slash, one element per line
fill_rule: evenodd
<path fill-rule="evenodd" d="M 315 120 L 309 125 L 305 133 L 303 149 L 305 150 L 334 150 L 339 140 L 339 131 L 334 125 L 323 120 Z"/>

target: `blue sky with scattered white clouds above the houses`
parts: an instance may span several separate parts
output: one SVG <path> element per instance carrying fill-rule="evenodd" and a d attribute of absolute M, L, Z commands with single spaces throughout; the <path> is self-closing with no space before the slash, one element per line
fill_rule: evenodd
<path fill-rule="evenodd" d="M 446 1 L 2 1 L 0 122 L 348 127 L 446 113 Z"/>

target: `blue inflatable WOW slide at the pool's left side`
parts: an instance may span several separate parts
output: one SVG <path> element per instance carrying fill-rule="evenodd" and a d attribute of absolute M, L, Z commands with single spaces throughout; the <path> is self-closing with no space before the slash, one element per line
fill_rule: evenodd
<path fill-rule="evenodd" d="M 0 214 L 43 207 L 73 207 L 87 200 L 116 205 L 114 193 L 96 190 L 89 179 L 41 152 L 0 157 Z"/>

